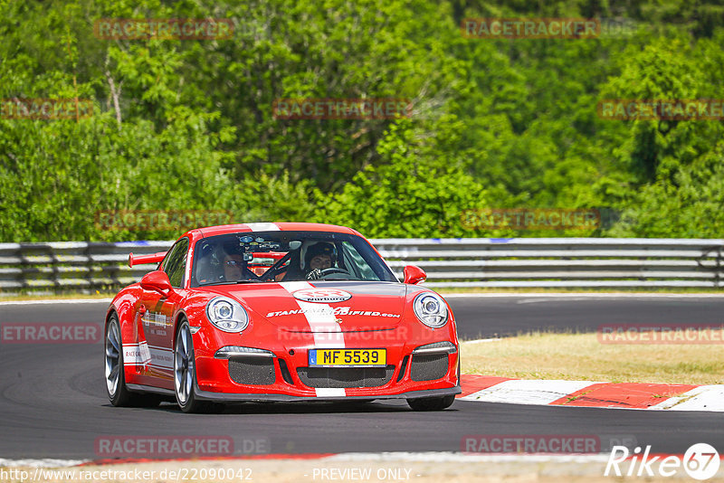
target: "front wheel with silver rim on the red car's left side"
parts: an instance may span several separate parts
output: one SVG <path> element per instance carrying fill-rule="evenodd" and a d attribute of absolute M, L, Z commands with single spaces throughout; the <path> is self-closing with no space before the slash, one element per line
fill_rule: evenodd
<path fill-rule="evenodd" d="M 179 344 L 182 346 L 179 346 Z M 190 381 L 188 380 L 189 377 Z M 181 388 L 182 381 L 186 383 L 183 390 Z M 188 321 L 184 318 L 178 324 L 174 342 L 174 393 L 176 393 L 176 404 L 183 412 L 213 413 L 224 411 L 223 404 L 200 401 L 196 397 L 195 387 L 194 339 L 188 328 Z"/>

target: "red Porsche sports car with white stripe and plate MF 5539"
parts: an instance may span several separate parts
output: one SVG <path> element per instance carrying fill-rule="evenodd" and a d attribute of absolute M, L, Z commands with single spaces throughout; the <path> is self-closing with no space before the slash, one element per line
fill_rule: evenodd
<path fill-rule="evenodd" d="M 405 281 L 355 230 L 246 223 L 186 232 L 129 255 L 158 263 L 110 304 L 105 376 L 116 406 L 184 412 L 245 401 L 404 398 L 442 410 L 461 393 L 445 300 Z"/>

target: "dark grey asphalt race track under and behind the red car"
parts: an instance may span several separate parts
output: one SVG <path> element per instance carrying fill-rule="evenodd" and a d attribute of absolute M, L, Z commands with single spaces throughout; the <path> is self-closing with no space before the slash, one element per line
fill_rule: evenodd
<path fill-rule="evenodd" d="M 605 323 L 720 323 L 724 298 L 610 296 L 450 298 L 462 338 Z M 98 322 L 107 302 L 0 305 L 0 327 L 17 322 Z M 102 344 L 0 344 L 0 458 L 97 459 L 114 435 L 231 436 L 271 453 L 457 451 L 471 434 L 598 435 L 678 452 L 724 447 L 719 412 L 656 412 L 458 401 L 444 412 L 405 403 L 240 404 L 222 414 L 114 408 L 105 395 Z M 249 443 L 246 444 L 244 440 Z"/>

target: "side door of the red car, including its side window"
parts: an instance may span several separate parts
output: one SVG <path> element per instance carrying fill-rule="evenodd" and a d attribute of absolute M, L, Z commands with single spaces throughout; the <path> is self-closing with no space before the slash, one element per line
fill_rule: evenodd
<path fill-rule="evenodd" d="M 141 374 L 161 380 L 168 388 L 173 387 L 173 316 L 183 299 L 188 247 L 188 238 L 180 239 L 161 261 L 160 270 L 166 272 L 174 291 L 165 296 L 143 290 L 138 304 L 138 345 L 144 362 Z"/>

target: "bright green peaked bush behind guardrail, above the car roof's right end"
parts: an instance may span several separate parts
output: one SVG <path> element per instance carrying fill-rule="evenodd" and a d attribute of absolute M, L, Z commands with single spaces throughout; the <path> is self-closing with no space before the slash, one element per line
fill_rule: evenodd
<path fill-rule="evenodd" d="M 485 206 L 486 192 L 452 156 L 433 156 L 409 124 L 393 125 L 380 141 L 384 164 L 367 166 L 340 194 L 318 192 L 319 221 L 358 220 L 355 228 L 369 237 L 463 236 L 462 211 Z"/>

